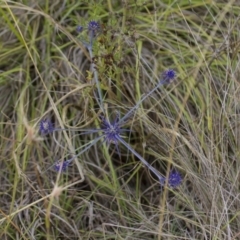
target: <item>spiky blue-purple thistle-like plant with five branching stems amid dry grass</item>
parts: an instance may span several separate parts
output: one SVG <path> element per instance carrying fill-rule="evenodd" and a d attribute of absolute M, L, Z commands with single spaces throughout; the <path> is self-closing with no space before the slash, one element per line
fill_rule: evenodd
<path fill-rule="evenodd" d="M 83 31 L 87 31 L 88 41 L 81 40 L 82 43 L 85 45 L 85 47 L 88 49 L 91 59 L 94 58 L 93 54 L 93 46 L 94 46 L 94 40 L 97 38 L 99 34 L 101 34 L 101 27 L 100 24 L 97 21 L 90 21 L 86 27 L 84 26 L 78 26 L 77 31 L 79 33 L 82 33 Z M 82 155 L 84 152 L 89 150 L 93 145 L 97 144 L 98 142 L 105 142 L 108 146 L 110 144 L 114 144 L 116 146 L 117 152 L 120 155 L 119 152 L 119 144 L 122 144 L 125 146 L 131 153 L 133 153 L 144 166 L 146 166 L 149 171 L 151 171 L 159 180 L 159 183 L 161 186 L 165 185 L 165 182 L 167 180 L 167 183 L 170 187 L 175 188 L 179 186 L 182 182 L 182 177 L 180 173 L 176 169 L 172 169 L 170 173 L 168 174 L 168 179 L 166 179 L 164 176 L 162 176 L 157 169 L 155 169 L 153 166 L 151 166 L 138 152 L 136 152 L 130 145 L 123 139 L 123 135 L 130 130 L 125 129 L 124 125 L 126 124 L 127 120 L 133 115 L 133 113 L 140 107 L 142 102 L 152 95 L 154 91 L 156 91 L 158 88 L 171 84 L 172 81 L 175 79 L 176 74 L 174 70 L 168 69 L 161 74 L 161 79 L 158 80 L 157 85 L 148 93 L 145 94 L 144 97 L 142 97 L 135 106 L 133 106 L 127 113 L 125 113 L 124 116 L 120 117 L 120 114 L 117 113 L 115 116 L 115 119 L 110 121 L 107 117 L 107 114 L 105 113 L 104 109 L 104 99 L 102 90 L 100 87 L 99 79 L 98 79 L 98 70 L 95 67 L 94 61 L 91 62 L 91 72 L 93 74 L 93 82 L 96 85 L 97 91 L 94 92 L 94 97 L 96 102 L 98 103 L 102 115 L 100 116 L 100 128 L 95 129 L 83 129 L 80 135 L 84 134 L 96 134 L 96 138 L 91 141 L 90 143 L 84 145 L 84 148 L 80 150 L 76 155 L 72 156 L 71 158 L 67 160 L 58 160 L 56 161 L 52 166 L 47 168 L 47 170 L 54 168 L 58 172 L 66 171 L 68 166 L 73 162 L 73 160 L 80 155 Z M 61 128 L 55 128 L 53 126 L 53 123 L 48 119 L 43 119 L 40 121 L 40 133 L 45 134 L 52 134 L 56 131 L 65 131 L 69 129 L 61 129 Z M 70 130 L 70 131 L 79 131 L 78 130 Z M 57 142 L 57 141 L 56 141 Z M 57 142 L 57 144 L 59 144 Z M 46 171 L 47 171 L 46 170 Z"/>

